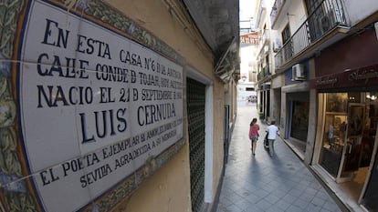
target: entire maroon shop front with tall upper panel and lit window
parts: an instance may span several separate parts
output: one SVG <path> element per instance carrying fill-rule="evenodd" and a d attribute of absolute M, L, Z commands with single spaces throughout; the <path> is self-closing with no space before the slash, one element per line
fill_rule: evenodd
<path fill-rule="evenodd" d="M 321 50 L 310 79 L 310 167 L 351 211 L 378 211 L 378 42 L 370 26 Z"/>

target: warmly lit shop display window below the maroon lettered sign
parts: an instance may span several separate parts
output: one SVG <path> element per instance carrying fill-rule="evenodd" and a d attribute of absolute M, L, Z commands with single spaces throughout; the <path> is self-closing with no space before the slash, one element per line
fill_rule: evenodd
<path fill-rule="evenodd" d="M 376 93 L 319 94 L 319 165 L 336 183 L 352 188 L 360 195 L 360 200 L 357 196 L 355 200 L 368 207 L 376 203 L 369 197 L 378 185 L 376 161 L 373 165 L 378 130 Z M 369 170 L 373 170 L 372 176 Z M 366 193 L 363 187 L 367 187 Z"/>

